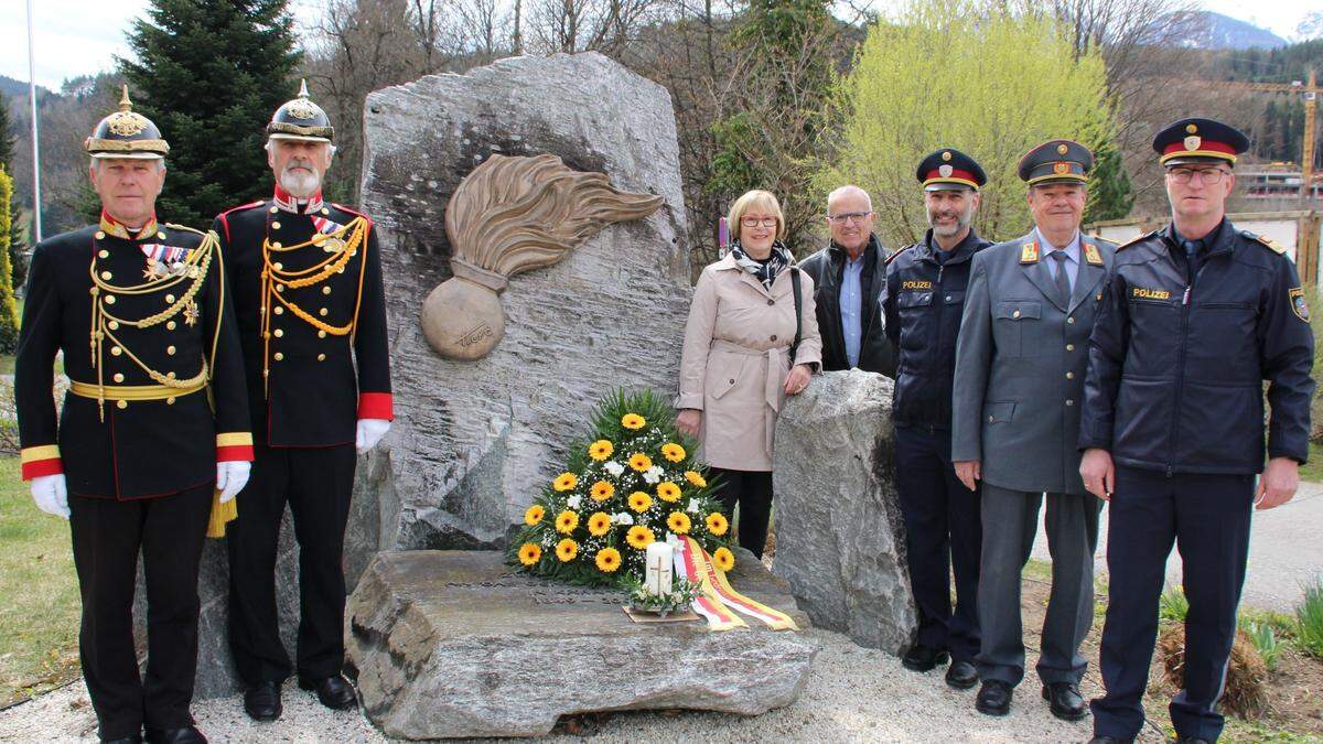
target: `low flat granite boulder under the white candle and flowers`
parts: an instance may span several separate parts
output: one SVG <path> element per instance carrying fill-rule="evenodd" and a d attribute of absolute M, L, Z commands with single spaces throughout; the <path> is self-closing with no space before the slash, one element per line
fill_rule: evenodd
<path fill-rule="evenodd" d="M 737 553 L 732 584 L 789 613 L 783 581 Z M 623 594 L 517 573 L 496 551 L 384 552 L 349 598 L 349 662 L 368 718 L 401 739 L 536 736 L 568 714 L 696 708 L 757 715 L 795 702 L 804 635 L 635 624 Z"/>

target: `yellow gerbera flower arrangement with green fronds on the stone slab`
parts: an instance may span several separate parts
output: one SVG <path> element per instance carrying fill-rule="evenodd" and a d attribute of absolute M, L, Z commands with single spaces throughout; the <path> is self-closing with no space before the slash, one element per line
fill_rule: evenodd
<path fill-rule="evenodd" d="M 643 581 L 647 547 L 668 536 L 730 555 L 729 523 L 697 449 L 675 428 L 667 398 L 647 389 L 611 392 L 587 437 L 568 447 L 564 462 L 548 465 L 556 469 L 511 540 L 511 565 L 623 588 Z"/>

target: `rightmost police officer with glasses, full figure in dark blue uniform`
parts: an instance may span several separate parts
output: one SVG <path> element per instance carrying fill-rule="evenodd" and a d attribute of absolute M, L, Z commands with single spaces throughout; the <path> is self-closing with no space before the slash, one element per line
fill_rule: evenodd
<path fill-rule="evenodd" d="M 1154 138 L 1172 221 L 1117 252 L 1089 349 L 1080 474 L 1110 500 L 1107 618 L 1094 741 L 1130 741 L 1175 541 L 1185 597 L 1179 741 L 1216 741 L 1250 515 L 1289 500 L 1308 454 L 1314 338 L 1285 249 L 1225 214 L 1249 140 L 1211 119 Z M 1263 467 L 1263 381 L 1269 383 Z M 1262 471 L 1256 487 L 1254 475 Z"/>

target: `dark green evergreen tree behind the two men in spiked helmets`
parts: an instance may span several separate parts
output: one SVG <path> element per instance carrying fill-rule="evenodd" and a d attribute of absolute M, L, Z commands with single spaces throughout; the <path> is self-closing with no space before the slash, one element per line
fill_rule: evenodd
<path fill-rule="evenodd" d="M 169 142 L 163 220 L 208 228 L 237 204 L 269 197 L 266 122 L 298 93 L 287 0 L 152 0 L 134 21 L 135 60 L 120 60 L 134 110 Z"/>

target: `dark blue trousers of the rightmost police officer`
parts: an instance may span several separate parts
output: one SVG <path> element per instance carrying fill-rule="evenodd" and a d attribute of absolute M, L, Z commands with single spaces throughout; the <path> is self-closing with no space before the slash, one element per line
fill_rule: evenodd
<path fill-rule="evenodd" d="M 1236 606 L 1249 555 L 1253 475 L 1168 477 L 1118 466 L 1110 502 L 1107 620 L 1099 666 L 1106 695 L 1091 702 L 1098 736 L 1130 739 L 1144 723 L 1143 694 L 1158 637 L 1172 541 L 1184 561 L 1185 687 L 1171 700 L 1176 733 L 1215 741 L 1217 699 L 1236 637 Z"/>

